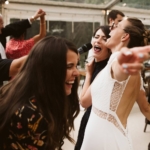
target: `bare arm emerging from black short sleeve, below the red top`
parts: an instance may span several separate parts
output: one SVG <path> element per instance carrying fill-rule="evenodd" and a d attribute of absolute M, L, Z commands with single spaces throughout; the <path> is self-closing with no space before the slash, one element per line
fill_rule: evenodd
<path fill-rule="evenodd" d="M 27 56 L 23 56 L 18 59 L 14 59 L 12 61 L 11 65 L 10 65 L 10 69 L 9 69 L 10 77 L 13 77 L 18 73 L 18 71 L 20 70 L 21 66 L 23 65 L 23 63 L 25 62 L 26 59 L 27 59 Z"/>

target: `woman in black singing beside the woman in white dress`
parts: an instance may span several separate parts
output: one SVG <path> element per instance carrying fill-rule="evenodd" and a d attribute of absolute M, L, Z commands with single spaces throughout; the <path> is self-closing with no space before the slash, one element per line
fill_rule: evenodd
<path fill-rule="evenodd" d="M 110 50 L 105 46 L 105 42 L 107 38 L 109 38 L 109 32 L 109 26 L 101 26 L 93 33 L 92 53 L 94 60 L 86 65 L 87 74 L 81 95 L 86 91 L 87 87 L 89 87 L 96 75 L 106 66 L 107 61 L 109 60 L 111 53 Z M 81 148 L 86 124 L 91 113 L 91 107 L 92 106 L 87 108 L 82 117 L 75 150 L 80 150 Z"/>

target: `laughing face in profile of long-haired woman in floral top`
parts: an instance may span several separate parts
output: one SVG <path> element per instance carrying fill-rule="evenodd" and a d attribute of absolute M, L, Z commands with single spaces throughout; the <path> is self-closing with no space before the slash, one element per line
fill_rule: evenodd
<path fill-rule="evenodd" d="M 79 61 L 79 56 L 71 51 L 68 50 L 67 52 L 67 72 L 66 72 L 66 79 L 65 79 L 65 91 L 66 95 L 71 94 L 71 89 L 74 84 L 76 77 L 79 75 L 77 70 L 77 63 Z"/>

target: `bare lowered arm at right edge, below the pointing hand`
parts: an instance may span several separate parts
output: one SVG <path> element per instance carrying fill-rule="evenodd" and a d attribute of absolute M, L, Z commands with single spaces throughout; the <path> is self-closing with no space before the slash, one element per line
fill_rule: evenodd
<path fill-rule="evenodd" d="M 144 90 L 140 90 L 137 103 L 143 115 L 150 120 L 150 104 L 147 101 L 146 94 Z"/>

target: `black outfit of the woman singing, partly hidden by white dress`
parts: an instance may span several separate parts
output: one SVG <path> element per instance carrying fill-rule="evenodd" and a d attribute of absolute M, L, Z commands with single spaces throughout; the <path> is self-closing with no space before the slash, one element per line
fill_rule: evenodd
<path fill-rule="evenodd" d="M 100 62 L 95 62 L 94 71 L 93 71 L 92 78 L 91 78 L 91 83 L 93 82 L 93 80 L 95 79 L 97 74 L 106 66 L 108 60 L 109 60 L 109 58 L 107 58 L 103 61 L 100 61 Z M 85 128 L 86 128 L 86 125 L 87 125 L 87 122 L 89 120 L 89 116 L 91 113 L 91 108 L 92 108 L 92 106 L 88 107 L 82 117 L 79 132 L 78 132 L 77 142 L 76 142 L 74 150 L 81 149 L 83 138 L 84 138 Z"/>

